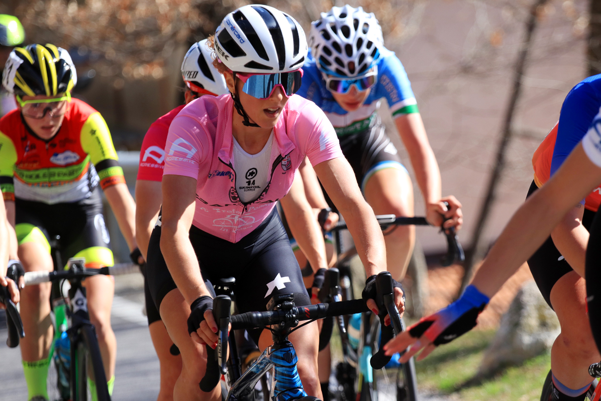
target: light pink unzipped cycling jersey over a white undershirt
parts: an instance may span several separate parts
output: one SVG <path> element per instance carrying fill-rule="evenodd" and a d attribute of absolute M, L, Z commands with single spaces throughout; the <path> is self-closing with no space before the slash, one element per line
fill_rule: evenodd
<path fill-rule="evenodd" d="M 234 183 L 233 100 L 229 94 L 189 103 L 169 126 L 163 175 L 197 180 L 192 224 L 238 242 L 254 230 L 290 190 L 294 172 L 308 156 L 312 165 L 344 157 L 334 127 L 315 103 L 293 95 L 275 130 L 278 152 L 270 158 L 271 179 L 257 200 L 242 203 Z"/>

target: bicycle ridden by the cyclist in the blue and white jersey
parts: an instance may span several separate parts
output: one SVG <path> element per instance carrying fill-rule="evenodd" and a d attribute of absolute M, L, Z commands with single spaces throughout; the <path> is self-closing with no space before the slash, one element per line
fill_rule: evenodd
<path fill-rule="evenodd" d="M 430 225 L 425 217 L 397 217 L 395 215 L 376 216 L 377 221 L 386 230 L 395 225 Z M 321 221 L 320 221 L 321 223 Z M 338 254 L 337 267 L 340 272 L 340 278 L 326 278 L 325 283 L 337 280 L 340 283 L 340 298 L 353 298 L 353 282 L 350 270 L 350 260 L 356 256 L 355 247 L 343 252 L 343 241 L 341 230 L 346 229 L 346 224 L 339 223 L 332 232 L 335 236 L 336 251 Z M 448 231 L 441 230 L 447 237 L 447 254 L 441 260 L 443 266 L 449 266 L 454 262 L 462 262 L 465 259 L 463 249 L 459 243 L 454 228 Z M 332 270 L 332 269 L 330 269 Z M 328 271 L 329 273 L 329 271 Z M 335 274 L 338 274 L 337 272 Z M 339 281 L 338 281 L 339 280 Z M 330 284 L 330 294 L 328 299 L 334 299 L 337 295 Z M 324 285 L 326 287 L 326 284 Z M 321 295 L 321 294 L 320 294 Z M 327 295 L 326 295 L 327 296 Z M 322 298 L 320 298 L 322 299 Z M 338 382 L 338 388 L 335 391 L 335 397 L 340 401 L 416 401 L 417 400 L 417 379 L 415 373 L 415 361 L 411 358 L 405 364 L 392 363 L 390 357 L 371 358 L 371 363 L 367 363 L 374 351 L 380 349 L 380 344 L 387 343 L 392 334 L 388 327 L 378 324 L 378 319 L 373 319 L 373 313 L 367 311 L 361 315 L 361 325 L 359 330 L 359 343 L 356 350 L 353 348 L 347 333 L 350 316 L 344 316 L 343 319 L 337 319 L 338 332 L 340 333 L 343 361 L 335 367 L 335 378 Z M 327 327 L 327 328 L 326 328 Z M 332 329 L 324 324 L 326 330 L 322 329 L 325 336 L 331 334 Z M 380 328 L 383 328 L 380 329 Z M 401 319 L 398 329 L 404 330 L 405 325 Z M 396 331 L 396 328 L 395 328 Z M 398 331 L 396 331 L 398 332 Z M 320 349 L 325 347 L 329 341 L 320 335 Z"/>

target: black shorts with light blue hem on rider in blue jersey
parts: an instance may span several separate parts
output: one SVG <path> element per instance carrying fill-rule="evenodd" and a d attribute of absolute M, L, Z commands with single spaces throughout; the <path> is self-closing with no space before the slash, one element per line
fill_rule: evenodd
<path fill-rule="evenodd" d="M 361 191 L 364 191 L 367 180 L 379 170 L 397 168 L 407 173 L 397 148 L 385 133 L 384 124 L 379 117 L 375 121 L 370 129 L 363 132 L 338 136 L 342 153 L 355 171 Z"/>

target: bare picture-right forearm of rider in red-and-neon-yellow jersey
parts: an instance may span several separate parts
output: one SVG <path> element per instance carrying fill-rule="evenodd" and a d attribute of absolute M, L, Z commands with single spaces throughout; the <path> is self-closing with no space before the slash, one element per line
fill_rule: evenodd
<path fill-rule="evenodd" d="M 105 189 L 105 195 L 117 219 L 119 229 L 123 237 L 125 237 L 127 246 L 130 251 L 133 251 L 137 245 L 135 239 L 136 204 L 133 201 L 132 195 L 124 183 L 109 186 Z"/>

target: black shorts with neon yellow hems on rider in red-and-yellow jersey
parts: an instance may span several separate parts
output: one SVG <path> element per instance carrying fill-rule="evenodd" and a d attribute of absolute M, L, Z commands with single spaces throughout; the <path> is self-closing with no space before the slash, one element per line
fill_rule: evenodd
<path fill-rule="evenodd" d="M 50 253 L 49 241 L 58 235 L 63 265 L 71 257 L 85 257 L 86 266 L 92 268 L 113 265 L 99 188 L 78 202 L 47 204 L 16 198 L 14 206 L 19 244 L 38 242 Z"/>

